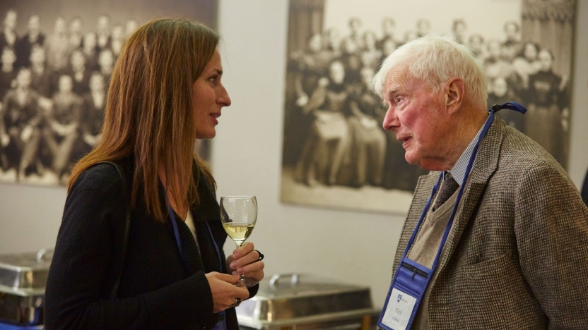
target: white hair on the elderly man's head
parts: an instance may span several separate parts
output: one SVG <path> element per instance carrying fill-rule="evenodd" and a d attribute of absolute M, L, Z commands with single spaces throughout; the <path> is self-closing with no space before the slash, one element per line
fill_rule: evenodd
<path fill-rule="evenodd" d="M 464 80 L 465 98 L 486 109 L 488 99 L 486 73 L 472 51 L 449 37 L 429 35 L 408 42 L 392 52 L 374 77 L 374 91 L 383 95 L 386 76 L 393 68 L 404 69 L 409 75 L 427 82 L 438 92 L 451 78 Z"/>

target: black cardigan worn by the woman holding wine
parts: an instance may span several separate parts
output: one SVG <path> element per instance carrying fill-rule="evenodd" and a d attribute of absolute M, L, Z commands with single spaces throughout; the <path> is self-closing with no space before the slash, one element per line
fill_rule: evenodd
<path fill-rule="evenodd" d="M 127 181 L 133 178 L 134 159 L 118 162 Z M 110 164 L 84 171 L 67 196 L 45 291 L 45 326 L 51 329 L 210 329 L 216 324 L 211 288 L 205 274 L 226 273 L 223 245 L 227 237 L 220 223 L 216 196 L 199 175 L 200 203 L 191 207 L 196 235 L 176 216 L 187 258 L 184 271 L 171 219 L 165 224 L 145 212 L 139 191 L 131 212 L 127 253 L 117 299 L 110 291 L 120 271 L 127 197 L 123 181 Z M 129 189 L 130 191 L 130 189 Z M 165 197 L 160 194 L 165 212 Z M 167 214 L 167 212 L 165 212 Z M 220 262 L 213 246 L 219 247 Z M 220 263 L 220 264 L 219 264 Z M 249 288 L 250 297 L 257 293 Z M 238 329 L 235 309 L 225 311 L 227 329 Z"/>

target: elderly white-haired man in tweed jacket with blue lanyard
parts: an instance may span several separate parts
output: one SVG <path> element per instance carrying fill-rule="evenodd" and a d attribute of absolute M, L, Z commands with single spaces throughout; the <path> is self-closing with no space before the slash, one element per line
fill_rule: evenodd
<path fill-rule="evenodd" d="M 587 329 L 588 209 L 550 154 L 495 117 L 499 106 L 486 110 L 471 52 L 416 39 L 374 82 L 389 105 L 384 128 L 408 163 L 432 171 L 418 181 L 378 325 Z"/>

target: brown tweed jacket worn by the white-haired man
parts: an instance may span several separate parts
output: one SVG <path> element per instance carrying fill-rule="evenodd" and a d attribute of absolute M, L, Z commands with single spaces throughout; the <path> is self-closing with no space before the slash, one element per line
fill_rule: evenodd
<path fill-rule="evenodd" d="M 439 172 L 422 176 L 399 264 Z M 588 209 L 543 148 L 496 118 L 430 282 L 430 329 L 588 329 Z"/>

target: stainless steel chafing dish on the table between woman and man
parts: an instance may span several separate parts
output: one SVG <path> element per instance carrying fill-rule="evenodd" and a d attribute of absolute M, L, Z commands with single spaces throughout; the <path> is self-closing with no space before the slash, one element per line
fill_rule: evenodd
<path fill-rule="evenodd" d="M 278 274 L 241 302 L 241 329 L 375 329 L 370 288 L 305 274 Z"/>

